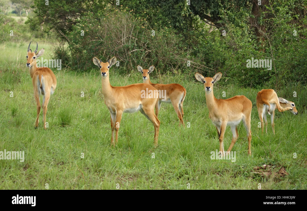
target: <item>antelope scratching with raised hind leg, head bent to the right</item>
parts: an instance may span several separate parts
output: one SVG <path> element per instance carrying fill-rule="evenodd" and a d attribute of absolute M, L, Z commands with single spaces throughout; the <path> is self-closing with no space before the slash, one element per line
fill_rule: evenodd
<path fill-rule="evenodd" d="M 271 115 L 271 126 L 273 129 L 273 134 L 275 134 L 274 130 L 274 116 L 275 116 L 275 109 L 277 108 L 279 112 L 282 111 L 291 111 L 294 115 L 297 115 L 298 112 L 293 102 L 285 100 L 281 97 L 277 97 L 276 92 L 273 89 L 262 89 L 257 94 L 257 109 L 258 115 L 261 122 L 261 129 L 263 133 L 263 117 L 266 123 L 266 133 L 267 133 L 267 120 L 266 120 L 266 113 Z"/>

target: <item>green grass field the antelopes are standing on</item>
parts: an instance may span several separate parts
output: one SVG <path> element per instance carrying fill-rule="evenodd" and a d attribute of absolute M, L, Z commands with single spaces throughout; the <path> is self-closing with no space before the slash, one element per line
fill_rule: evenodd
<path fill-rule="evenodd" d="M 276 134 L 269 121 L 268 134 L 262 135 L 256 95 L 262 88 L 272 87 L 226 86 L 222 77 L 214 87 L 216 98 L 245 95 L 253 102 L 252 156 L 247 155 L 246 131 L 241 123 L 232 149 L 236 161 L 231 162 L 210 158 L 210 152 L 219 149 L 219 141 L 208 118 L 204 87 L 196 83 L 194 73 L 153 75 L 154 83 L 179 83 L 186 88 L 184 121 L 186 126 L 190 122 L 190 127 L 179 128 L 171 104 L 162 104 L 158 147 L 154 148 L 151 122 L 140 112 L 124 113 L 119 142 L 113 148 L 110 113 L 103 102 L 101 76 L 94 64 L 89 73 L 76 73 L 63 66 L 60 71 L 53 69 L 57 88 L 48 105 L 49 128 L 43 129 L 41 114 L 39 128 L 34 129 L 36 104 L 25 66 L 27 46 L 0 46 L 5 52 L 0 62 L 0 151 L 25 152 L 24 162 L 0 160 L 0 189 L 45 189 L 46 183 L 49 189 L 258 189 L 258 183 L 261 189 L 307 189 L 306 87 L 292 84 L 277 91 L 278 96 L 295 102 L 299 114 L 276 110 Z M 43 57 L 51 58 L 52 45 L 41 42 L 39 49 L 42 47 Z M 129 75 L 117 72 L 116 66 L 110 69 L 111 85 L 142 82 L 136 68 Z M 223 91 L 226 97 L 222 97 Z M 297 97 L 293 97 L 293 91 Z M 230 142 L 231 130 L 227 127 L 226 149 Z M 268 166 L 264 168 L 263 164 Z M 287 173 L 281 173 L 282 167 Z"/>

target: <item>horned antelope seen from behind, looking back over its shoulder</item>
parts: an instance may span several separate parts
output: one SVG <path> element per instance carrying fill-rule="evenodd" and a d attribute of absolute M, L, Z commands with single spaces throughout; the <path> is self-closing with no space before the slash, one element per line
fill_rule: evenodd
<path fill-rule="evenodd" d="M 38 44 L 36 43 L 36 50 L 32 52 L 32 50 L 30 49 L 31 42 L 28 47 L 26 66 L 29 67 L 30 76 L 32 78 L 34 98 L 37 107 L 37 117 L 34 126 L 35 128 L 38 127 L 38 119 L 39 114 L 41 112 L 40 95 L 43 95 L 43 122 L 44 129 L 46 130 L 47 106 L 49 103 L 50 95 L 52 95 L 54 90 L 56 89 L 56 76 L 48 67 L 36 66 L 36 58 L 43 55 L 45 49 L 42 48 L 40 51 L 38 51 L 38 53 L 36 53 L 38 49 Z"/>

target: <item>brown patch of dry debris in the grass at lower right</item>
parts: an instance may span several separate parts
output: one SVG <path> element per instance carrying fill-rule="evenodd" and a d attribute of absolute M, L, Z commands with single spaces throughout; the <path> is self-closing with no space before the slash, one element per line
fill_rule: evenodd
<path fill-rule="evenodd" d="M 275 181 L 289 174 L 283 166 L 271 166 L 266 164 L 255 166 L 253 170 L 252 174 L 254 177 L 260 175 L 265 178 L 274 179 Z"/>

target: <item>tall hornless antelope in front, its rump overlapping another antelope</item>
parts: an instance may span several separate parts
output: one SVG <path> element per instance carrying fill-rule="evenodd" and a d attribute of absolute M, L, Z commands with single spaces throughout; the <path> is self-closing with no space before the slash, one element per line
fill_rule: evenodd
<path fill-rule="evenodd" d="M 158 136 L 160 129 L 160 121 L 154 114 L 154 106 L 159 98 L 158 94 L 153 95 L 153 97 L 145 97 L 142 93 L 155 92 L 157 89 L 148 84 L 132 84 L 127 86 L 111 86 L 109 80 L 109 69 L 116 63 L 116 57 L 112 57 L 106 63 L 102 62 L 99 58 L 94 57 L 93 62 L 100 68 L 101 73 L 101 84 L 102 84 L 102 94 L 104 98 L 104 103 L 110 111 L 111 115 L 111 146 L 115 146 L 118 142 L 118 130 L 119 124 L 122 119 L 122 113 L 134 113 L 136 111 L 141 111 L 141 113 L 149 119 L 154 126 L 154 145 L 158 144 Z M 115 143 L 114 143 L 114 133 Z"/>

